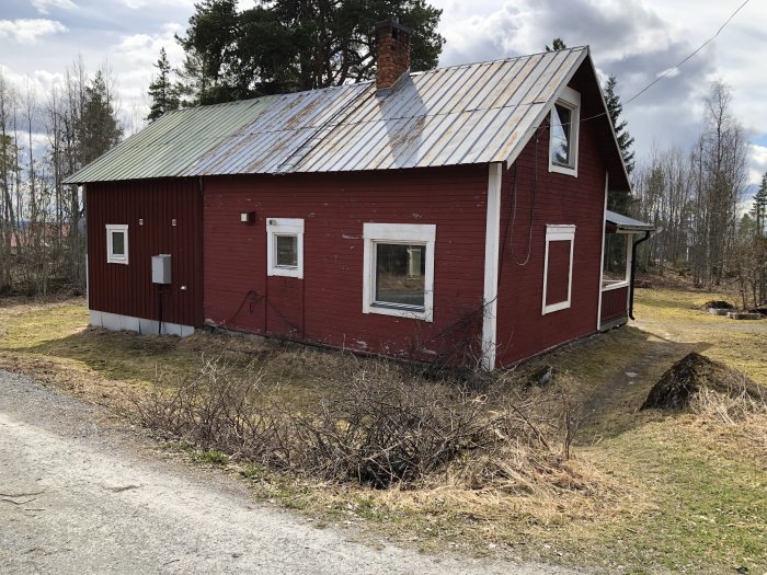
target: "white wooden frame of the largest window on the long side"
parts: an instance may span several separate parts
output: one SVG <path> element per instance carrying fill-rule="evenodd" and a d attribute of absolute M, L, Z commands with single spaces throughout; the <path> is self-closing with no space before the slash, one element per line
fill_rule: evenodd
<path fill-rule="evenodd" d="M 363 238 L 363 313 L 380 313 L 423 321 L 434 321 L 434 243 L 437 227 L 433 223 L 365 223 Z M 376 302 L 376 244 L 401 243 L 425 245 L 423 309 L 414 306 Z"/>

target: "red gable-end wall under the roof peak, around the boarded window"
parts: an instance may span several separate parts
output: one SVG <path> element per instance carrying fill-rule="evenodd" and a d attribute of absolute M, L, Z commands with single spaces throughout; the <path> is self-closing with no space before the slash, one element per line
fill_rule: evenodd
<path fill-rule="evenodd" d="M 581 92 L 582 118 L 602 112 L 599 95 L 591 85 L 589 73 L 582 68 L 570 83 Z M 577 177 L 549 172 L 548 120 L 533 136 L 515 165 L 503 172 L 499 366 L 507 366 L 597 330 L 605 200 L 604 154 L 608 149 L 605 148 L 604 126 L 599 124 L 604 119 L 581 123 Z M 571 307 L 542 315 L 547 223 L 575 225 L 576 228 Z M 561 283 L 557 285 L 562 287 Z"/>

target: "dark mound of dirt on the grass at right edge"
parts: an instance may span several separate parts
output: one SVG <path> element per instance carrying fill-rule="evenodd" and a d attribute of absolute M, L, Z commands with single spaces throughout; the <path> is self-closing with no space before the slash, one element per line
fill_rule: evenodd
<path fill-rule="evenodd" d="M 702 388 L 767 402 L 767 391 L 744 373 L 692 352 L 661 376 L 640 409 L 684 410 Z"/>

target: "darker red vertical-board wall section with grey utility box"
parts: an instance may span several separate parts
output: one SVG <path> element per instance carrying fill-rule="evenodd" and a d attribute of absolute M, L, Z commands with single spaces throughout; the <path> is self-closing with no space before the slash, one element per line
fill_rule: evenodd
<path fill-rule="evenodd" d="M 197 181 L 88 184 L 85 202 L 90 309 L 157 320 L 151 256 L 168 253 L 172 284 L 163 296 L 163 321 L 202 326 L 202 195 Z M 128 225 L 128 265 L 106 262 L 107 223 Z"/>

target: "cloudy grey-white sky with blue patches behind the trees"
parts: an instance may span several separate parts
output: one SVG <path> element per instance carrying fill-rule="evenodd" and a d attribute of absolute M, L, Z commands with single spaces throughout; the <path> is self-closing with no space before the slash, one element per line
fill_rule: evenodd
<path fill-rule="evenodd" d="M 554 37 L 589 45 L 600 74 L 615 74 L 639 161 L 653 150 L 689 148 L 714 80 L 732 89 L 732 110 L 749 141 L 751 184 L 767 172 L 767 2 L 751 0 L 697 56 L 674 66 L 717 33 L 743 0 L 431 0 L 443 15 L 439 66 L 542 51 Z M 240 0 L 240 8 L 252 5 Z M 108 66 L 127 131 L 148 111 L 152 65 L 172 64 L 194 0 L 0 0 L 0 69 L 41 97 L 73 59 L 91 72 Z M 629 100 L 659 74 L 666 78 Z"/>

